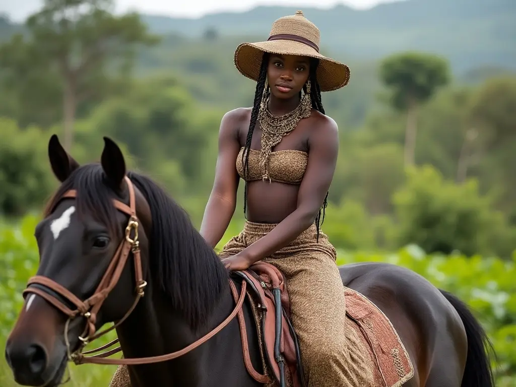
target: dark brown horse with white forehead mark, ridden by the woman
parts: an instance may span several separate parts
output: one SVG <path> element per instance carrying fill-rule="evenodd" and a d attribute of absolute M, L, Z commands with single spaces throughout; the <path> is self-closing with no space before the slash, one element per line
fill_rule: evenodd
<path fill-rule="evenodd" d="M 126 317 L 116 331 L 128 359 L 179 351 L 232 314 L 235 300 L 229 275 L 216 253 L 163 189 L 134 172 L 127 174 L 127 183 L 124 158 L 114 142 L 105 139 L 100 164 L 79 167 L 53 136 L 49 157 L 62 184 L 36 228 L 40 280 L 29 285 L 6 347 L 7 362 L 18 383 L 58 385 L 70 352 L 81 347 L 79 336 L 85 332 L 91 336 L 111 321 Z M 114 200 L 119 201 L 117 207 Z M 124 231 L 134 226 L 127 215 L 132 209 L 139 222 L 139 246 L 127 245 L 132 247 L 130 253 L 123 246 L 124 235 L 129 241 L 135 238 Z M 111 259 L 124 254 L 127 263 L 117 263 L 122 270 L 115 273 Z M 102 280 L 105 273 L 114 279 L 109 286 Z M 405 385 L 494 385 L 486 334 L 455 296 L 394 265 L 345 265 L 341 276 L 346 286 L 372 300 L 398 331 L 415 368 Z M 241 284 L 235 284 L 240 292 Z M 137 291 L 144 285 L 144 297 L 134 307 Z M 107 289 L 102 297 L 99 289 Z M 67 318 L 77 308 L 80 313 Z M 261 372 L 247 301 L 243 311 L 251 362 Z M 233 318 L 182 356 L 129 366 L 131 382 L 133 387 L 261 385 L 248 373 L 241 348 L 238 320 Z"/>

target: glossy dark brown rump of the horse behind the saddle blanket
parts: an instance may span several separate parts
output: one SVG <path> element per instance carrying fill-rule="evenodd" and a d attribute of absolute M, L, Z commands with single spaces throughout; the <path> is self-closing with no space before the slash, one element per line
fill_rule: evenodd
<path fill-rule="evenodd" d="M 432 375 L 439 369 L 449 375 L 449 380 L 441 378 L 442 385 L 460 386 L 466 334 L 460 316 L 439 289 L 392 264 L 353 263 L 339 270 L 344 286 L 372 301 L 396 329 L 415 368 L 405 385 L 433 387 Z"/>

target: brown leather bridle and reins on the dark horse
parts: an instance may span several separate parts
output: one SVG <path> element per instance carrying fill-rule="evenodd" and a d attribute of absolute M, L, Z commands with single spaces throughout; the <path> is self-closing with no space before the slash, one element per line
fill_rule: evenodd
<path fill-rule="evenodd" d="M 85 363 L 95 363 L 95 364 L 118 364 L 118 365 L 137 365 L 137 364 L 151 364 L 151 363 L 157 363 L 157 362 L 163 362 L 172 360 L 175 358 L 178 358 L 180 356 L 183 356 L 184 354 L 190 352 L 191 350 L 199 347 L 204 342 L 208 341 L 210 338 L 212 338 L 215 334 L 217 334 L 220 330 L 222 330 L 225 326 L 227 326 L 231 320 L 238 314 L 238 319 L 241 323 L 243 322 L 243 314 L 242 314 L 242 305 L 244 303 L 245 297 L 246 297 L 246 281 L 242 282 L 242 287 L 240 291 L 240 295 L 238 296 L 238 293 L 236 291 L 235 284 L 232 280 L 229 281 L 231 286 L 231 292 L 233 294 L 233 298 L 235 299 L 236 306 L 233 312 L 224 320 L 222 321 L 215 329 L 213 329 L 211 332 L 207 333 L 206 335 L 199 338 L 199 340 L 193 342 L 192 344 L 188 345 L 187 347 L 171 352 L 168 354 L 164 354 L 161 356 L 153 356 L 153 357 L 147 357 L 147 358 L 131 358 L 131 359 L 106 359 L 108 356 L 111 356 L 114 353 L 120 352 L 122 349 L 121 347 L 108 350 L 103 353 L 96 354 L 94 356 L 85 357 L 85 354 L 89 353 L 95 353 L 102 351 L 104 349 L 107 349 L 111 347 L 112 345 L 116 344 L 118 342 L 118 339 L 100 347 L 96 348 L 90 351 L 83 352 L 82 350 L 84 347 L 95 340 L 96 338 L 99 338 L 103 336 L 104 334 L 108 333 L 109 331 L 117 328 L 122 324 L 123 321 L 134 311 L 136 308 L 136 305 L 138 304 L 138 301 L 143 297 L 144 295 L 144 288 L 147 286 L 147 282 L 143 280 L 143 273 L 142 273 L 142 267 L 141 267 L 141 257 L 140 257 L 140 247 L 139 247 L 139 241 L 138 241 L 138 218 L 136 216 L 136 203 L 135 203 L 135 192 L 133 183 L 131 180 L 125 176 L 125 182 L 127 183 L 127 187 L 129 190 L 129 205 L 126 205 L 122 203 L 119 200 L 113 200 L 113 204 L 115 207 L 123 212 L 124 214 L 129 215 L 129 220 L 127 222 L 127 227 L 125 228 L 125 237 L 121 241 L 117 251 L 115 252 L 115 255 L 112 257 L 111 262 L 106 269 L 106 272 L 104 273 L 104 276 L 99 283 L 98 287 L 96 288 L 94 294 L 86 299 L 85 301 L 80 300 L 77 298 L 72 292 L 70 292 L 67 288 L 63 287 L 62 285 L 58 284 L 57 282 L 51 280 L 48 277 L 44 276 L 34 276 L 31 277 L 27 283 L 27 287 L 23 291 L 23 295 L 25 296 L 27 293 L 33 293 L 36 294 L 46 301 L 50 302 L 54 307 L 56 307 L 58 310 L 60 310 L 62 313 L 66 314 L 68 316 L 68 320 L 65 324 L 65 342 L 67 346 L 67 352 L 68 352 L 68 360 L 73 361 L 75 364 L 85 364 Z M 62 199 L 64 198 L 76 198 L 77 192 L 75 190 L 69 190 L 67 191 Z M 112 291 L 112 289 L 116 286 L 118 283 L 118 280 L 120 279 L 120 276 L 122 274 L 122 270 L 125 266 L 125 263 L 127 262 L 127 257 L 130 253 L 133 253 L 133 260 L 134 260 L 134 266 L 135 266 L 135 280 L 136 280 L 136 298 L 133 302 L 132 307 L 127 311 L 127 313 L 116 322 L 115 325 L 112 327 L 105 329 L 102 332 L 95 333 L 95 323 L 96 323 L 96 316 L 99 313 L 99 310 L 102 306 L 102 303 L 107 298 L 109 292 Z M 36 286 L 30 286 L 30 285 L 36 285 Z M 45 291 L 44 289 L 50 289 L 52 292 Z M 59 297 L 56 297 L 52 295 L 52 293 L 56 293 Z M 73 305 L 75 305 L 76 309 L 72 310 L 70 309 L 66 302 L 63 302 L 64 300 L 67 300 L 71 302 Z M 68 328 L 70 321 L 74 318 L 82 316 L 86 318 L 86 327 L 84 332 L 79 336 L 79 340 L 82 342 L 82 344 L 79 346 L 79 348 L 72 352 L 70 348 L 70 342 L 68 340 Z M 243 337 L 244 338 L 244 337 Z M 247 340 L 246 340 L 247 345 Z M 245 345 L 245 346 L 246 346 Z M 246 359 L 248 360 L 248 359 Z M 246 361 L 247 363 L 247 361 Z M 247 365 L 247 364 L 246 364 Z M 258 375 L 263 377 L 262 375 Z"/>

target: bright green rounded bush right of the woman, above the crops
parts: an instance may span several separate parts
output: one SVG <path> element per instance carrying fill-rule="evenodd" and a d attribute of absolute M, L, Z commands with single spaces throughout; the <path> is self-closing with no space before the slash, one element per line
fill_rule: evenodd
<path fill-rule="evenodd" d="M 457 185 L 431 166 L 412 167 L 407 177 L 393 198 L 401 246 L 416 244 L 428 253 L 510 254 L 505 219 L 492 209 L 491 197 L 480 196 L 477 181 Z"/>

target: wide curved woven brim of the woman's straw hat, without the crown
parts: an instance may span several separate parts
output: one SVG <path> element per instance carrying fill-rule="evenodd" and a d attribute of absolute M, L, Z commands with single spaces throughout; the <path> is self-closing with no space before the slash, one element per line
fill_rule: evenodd
<path fill-rule="evenodd" d="M 312 47 L 292 40 L 271 40 L 257 43 L 241 43 L 235 51 L 235 66 L 240 74 L 257 80 L 263 53 L 300 55 L 319 59 L 317 82 L 321 91 L 333 91 L 349 83 L 349 67 L 344 63 L 319 54 Z"/>

